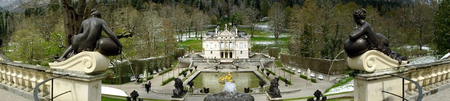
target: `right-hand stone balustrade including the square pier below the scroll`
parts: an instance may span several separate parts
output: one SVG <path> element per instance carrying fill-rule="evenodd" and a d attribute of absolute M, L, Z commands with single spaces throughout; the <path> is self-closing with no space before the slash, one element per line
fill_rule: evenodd
<path fill-rule="evenodd" d="M 354 77 L 355 100 L 401 100 L 386 92 L 399 96 L 404 93 L 404 98 L 416 100 L 419 89 L 413 82 L 386 74 L 403 76 L 417 82 L 422 87 L 423 96 L 427 96 L 450 87 L 450 60 L 376 69 L 373 72 L 354 70 L 350 74 Z"/>

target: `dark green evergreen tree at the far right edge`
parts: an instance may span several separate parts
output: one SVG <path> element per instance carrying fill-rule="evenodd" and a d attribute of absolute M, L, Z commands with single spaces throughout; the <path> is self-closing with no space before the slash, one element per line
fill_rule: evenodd
<path fill-rule="evenodd" d="M 442 1 L 439 5 L 439 9 L 434 16 L 434 40 L 433 43 L 436 47 L 433 55 L 435 57 L 441 57 L 449 52 L 450 49 L 450 1 Z"/>

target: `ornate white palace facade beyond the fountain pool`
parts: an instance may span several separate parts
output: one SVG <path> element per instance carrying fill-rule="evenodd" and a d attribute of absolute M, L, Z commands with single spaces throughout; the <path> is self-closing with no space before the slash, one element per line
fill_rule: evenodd
<path fill-rule="evenodd" d="M 249 58 L 250 37 L 244 31 L 238 31 L 235 26 L 230 31 L 227 25 L 223 31 L 218 31 L 218 28 L 203 38 L 204 58 Z"/>

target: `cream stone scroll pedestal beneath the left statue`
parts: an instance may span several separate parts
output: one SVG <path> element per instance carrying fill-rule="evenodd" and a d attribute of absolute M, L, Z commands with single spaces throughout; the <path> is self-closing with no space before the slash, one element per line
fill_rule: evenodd
<path fill-rule="evenodd" d="M 98 52 L 81 52 L 63 62 L 49 63 L 53 75 L 65 75 L 54 79 L 54 95 L 61 101 L 100 101 L 102 71 L 108 69 L 110 60 Z"/>

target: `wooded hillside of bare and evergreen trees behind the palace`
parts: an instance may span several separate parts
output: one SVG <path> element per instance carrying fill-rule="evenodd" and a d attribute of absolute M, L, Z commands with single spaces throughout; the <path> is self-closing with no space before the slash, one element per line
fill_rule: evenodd
<path fill-rule="evenodd" d="M 409 57 L 447 53 L 448 36 L 435 20 L 445 18 L 448 1 L 384 0 L 29 0 L 2 9 L 2 51 L 10 58 L 47 65 L 64 51 L 82 20 L 97 9 L 123 44 L 123 55 L 113 59 L 142 59 L 173 55 L 183 37 L 201 39 L 215 25 L 245 26 L 253 36 L 258 23 L 266 22 L 275 45 L 286 54 L 334 59 L 357 25 L 352 12 L 366 9 L 375 32 L 389 39 L 391 48 Z M 444 6 L 440 6 L 444 5 Z M 441 8 L 442 7 L 442 8 Z M 14 8 L 14 10 L 11 10 Z M 437 16 L 437 12 L 443 15 Z M 448 15 L 447 15 L 448 17 Z M 228 18 L 228 19 L 224 19 Z M 267 19 L 266 21 L 264 19 Z M 445 20 L 442 22 L 445 23 Z M 443 27 L 442 27 L 443 26 Z M 448 26 L 443 24 L 442 27 Z M 440 33 L 440 34 L 439 34 Z M 288 34 L 287 42 L 278 42 Z M 437 35 L 438 34 L 438 35 Z M 441 36 L 439 36 L 441 35 Z M 107 37 L 106 35 L 104 35 Z M 437 40 L 436 40 L 437 39 Z M 442 42 L 443 41 L 443 42 Z M 280 44 L 280 45 L 279 45 Z M 411 46 L 418 46 L 411 49 Z M 339 57 L 345 57 L 341 55 Z"/>

